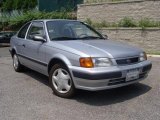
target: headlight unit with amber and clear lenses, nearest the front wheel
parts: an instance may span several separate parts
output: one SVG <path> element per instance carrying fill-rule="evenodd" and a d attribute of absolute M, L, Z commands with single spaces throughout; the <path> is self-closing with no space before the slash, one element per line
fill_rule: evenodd
<path fill-rule="evenodd" d="M 109 67 L 112 62 L 109 58 L 80 58 L 80 66 L 85 68 Z"/>

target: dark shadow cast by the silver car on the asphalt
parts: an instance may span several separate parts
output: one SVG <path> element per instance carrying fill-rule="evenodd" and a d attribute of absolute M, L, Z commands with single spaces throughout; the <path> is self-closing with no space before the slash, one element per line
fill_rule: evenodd
<path fill-rule="evenodd" d="M 27 69 L 24 72 L 24 74 L 50 87 L 47 76 L 42 75 L 30 69 L 29 70 Z M 77 93 L 72 98 L 72 100 L 76 100 L 77 102 L 93 106 L 104 106 L 136 98 L 140 95 L 147 93 L 151 89 L 152 88 L 148 85 L 145 85 L 143 83 L 136 83 L 125 87 L 103 90 L 103 91 L 91 92 L 85 90 L 77 90 Z"/>

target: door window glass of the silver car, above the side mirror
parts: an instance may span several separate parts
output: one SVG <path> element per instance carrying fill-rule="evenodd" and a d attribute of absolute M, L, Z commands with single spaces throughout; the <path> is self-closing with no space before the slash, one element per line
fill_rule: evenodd
<path fill-rule="evenodd" d="M 27 39 L 32 40 L 33 35 L 44 36 L 44 33 L 43 23 L 34 22 L 28 31 Z"/>

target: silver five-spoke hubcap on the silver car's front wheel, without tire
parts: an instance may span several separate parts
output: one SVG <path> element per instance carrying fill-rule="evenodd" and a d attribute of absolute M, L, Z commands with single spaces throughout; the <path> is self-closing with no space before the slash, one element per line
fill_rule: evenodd
<path fill-rule="evenodd" d="M 62 68 L 54 71 L 52 83 L 54 88 L 60 93 L 67 93 L 71 89 L 71 77 L 69 73 Z"/>

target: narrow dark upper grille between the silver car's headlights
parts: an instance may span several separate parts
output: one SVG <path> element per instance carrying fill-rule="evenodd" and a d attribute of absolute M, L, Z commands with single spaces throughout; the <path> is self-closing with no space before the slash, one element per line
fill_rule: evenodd
<path fill-rule="evenodd" d="M 134 64 L 134 63 L 139 62 L 139 57 L 118 59 L 118 60 L 116 60 L 116 62 L 117 62 L 118 65 Z"/>

